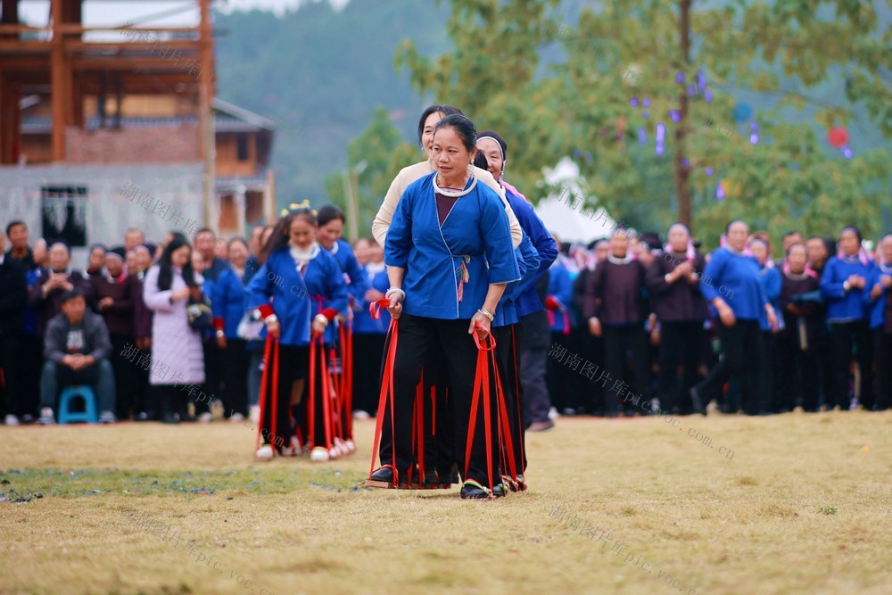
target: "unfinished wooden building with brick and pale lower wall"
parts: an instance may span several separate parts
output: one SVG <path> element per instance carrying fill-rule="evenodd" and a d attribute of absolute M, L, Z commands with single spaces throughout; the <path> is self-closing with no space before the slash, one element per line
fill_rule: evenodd
<path fill-rule="evenodd" d="M 194 26 L 91 27 L 103 0 L 49 0 L 43 26 L 0 0 L 0 221 L 77 248 L 275 218 L 272 122 L 215 100 L 211 0 L 193 1 Z"/>

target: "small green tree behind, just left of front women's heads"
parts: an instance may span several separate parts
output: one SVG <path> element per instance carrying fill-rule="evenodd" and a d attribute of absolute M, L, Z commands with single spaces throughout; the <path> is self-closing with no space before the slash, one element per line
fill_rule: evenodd
<path fill-rule="evenodd" d="M 384 194 L 400 169 L 422 161 L 417 147 L 402 140 L 400 130 L 383 107 L 376 108 L 368 128 L 347 146 L 347 169 L 326 177 L 326 193 L 351 222 L 348 197 L 356 201 L 358 227 L 355 236 L 369 236 L 372 221 Z M 350 227 L 348 225 L 348 227 Z M 355 237 L 351 229 L 348 237 Z"/>

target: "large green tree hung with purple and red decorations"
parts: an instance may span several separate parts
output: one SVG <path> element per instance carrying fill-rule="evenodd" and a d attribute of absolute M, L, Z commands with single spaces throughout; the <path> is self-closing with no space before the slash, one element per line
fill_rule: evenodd
<path fill-rule="evenodd" d="M 878 5 L 608 0 L 559 21 L 550 0 L 451 0 L 455 48 L 429 60 L 407 41 L 396 60 L 422 93 L 504 131 L 509 177 L 522 189 L 570 155 L 599 204 L 636 227 L 665 227 L 675 215 L 712 245 L 732 217 L 773 236 L 849 222 L 870 234 L 889 205 L 892 136 L 892 32 Z M 554 41 L 566 55 L 537 69 Z M 836 100 L 816 100 L 822 93 Z M 744 99 L 753 114 L 738 123 Z M 827 130 L 859 120 L 870 131 L 848 160 Z"/>

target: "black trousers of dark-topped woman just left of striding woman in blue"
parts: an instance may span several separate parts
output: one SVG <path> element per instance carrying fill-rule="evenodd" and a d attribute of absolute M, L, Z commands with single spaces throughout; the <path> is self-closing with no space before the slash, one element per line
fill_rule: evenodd
<path fill-rule="evenodd" d="M 702 320 L 660 323 L 660 409 L 688 414 L 693 410 L 690 387 L 697 384 L 705 332 Z M 681 383 L 678 367 L 681 364 Z"/>

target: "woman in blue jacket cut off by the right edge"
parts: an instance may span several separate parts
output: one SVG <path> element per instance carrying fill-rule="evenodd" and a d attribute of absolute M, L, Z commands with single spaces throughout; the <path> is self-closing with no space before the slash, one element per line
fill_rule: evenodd
<path fill-rule="evenodd" d="M 892 405 L 892 234 L 886 234 L 877 246 L 877 266 L 864 288 L 864 302 L 871 312 L 873 356 L 876 362 L 874 411 Z M 869 290 L 869 291 L 868 291 Z"/>

